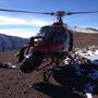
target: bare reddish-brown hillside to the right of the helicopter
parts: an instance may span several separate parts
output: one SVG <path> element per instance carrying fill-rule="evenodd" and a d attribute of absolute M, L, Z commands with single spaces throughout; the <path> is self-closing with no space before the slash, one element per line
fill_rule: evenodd
<path fill-rule="evenodd" d="M 98 33 L 72 32 L 74 47 L 85 48 L 89 46 L 98 47 Z"/>

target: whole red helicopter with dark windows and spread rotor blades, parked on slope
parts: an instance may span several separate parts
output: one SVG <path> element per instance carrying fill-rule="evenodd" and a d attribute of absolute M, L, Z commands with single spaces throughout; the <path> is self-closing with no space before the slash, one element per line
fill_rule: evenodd
<path fill-rule="evenodd" d="M 39 33 L 30 38 L 27 52 L 29 47 L 32 47 L 30 54 L 27 54 L 22 59 L 21 71 L 24 73 L 30 73 L 46 59 L 50 60 L 49 64 L 56 63 L 59 65 L 73 48 L 73 34 L 63 23 L 62 17 L 65 15 L 72 14 L 84 14 L 84 13 L 98 13 L 98 11 L 87 11 L 87 12 L 66 12 L 66 11 L 57 11 L 51 13 L 41 13 L 41 12 L 32 12 L 32 11 L 17 11 L 17 10 L 7 10 L 0 9 L 0 11 L 7 12 L 19 12 L 19 13 L 35 13 L 35 14 L 46 14 L 53 15 L 57 17 L 57 22 L 52 25 L 42 26 Z M 24 47 L 20 52 L 23 54 L 24 50 L 27 47 Z M 24 57 L 24 56 L 22 56 Z M 49 65 L 48 64 L 48 65 Z M 45 65 L 47 66 L 47 64 Z M 44 66 L 44 68 L 45 68 Z"/>

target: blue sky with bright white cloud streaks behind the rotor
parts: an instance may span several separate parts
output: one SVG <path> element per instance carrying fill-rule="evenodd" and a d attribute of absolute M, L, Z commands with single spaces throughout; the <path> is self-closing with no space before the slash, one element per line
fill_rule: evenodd
<path fill-rule="evenodd" d="M 0 9 L 37 12 L 98 11 L 98 0 L 0 0 Z M 65 16 L 69 26 L 98 28 L 98 13 Z M 52 24 L 53 16 L 0 12 L 0 33 L 30 37 L 44 25 Z"/>

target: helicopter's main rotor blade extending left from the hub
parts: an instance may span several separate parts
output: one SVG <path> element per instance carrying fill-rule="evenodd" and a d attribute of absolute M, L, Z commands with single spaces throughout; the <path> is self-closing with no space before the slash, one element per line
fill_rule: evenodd
<path fill-rule="evenodd" d="M 46 13 L 46 12 L 32 12 L 32 11 L 19 11 L 19 10 L 8 10 L 8 9 L 0 9 L 0 11 L 3 12 L 19 12 L 19 13 L 36 13 L 36 14 L 49 14 L 49 15 L 53 15 L 53 13 Z"/>

